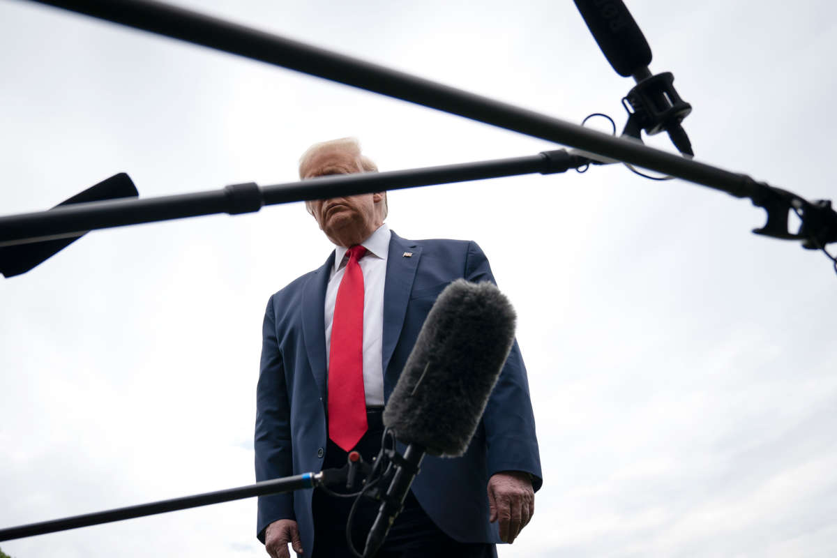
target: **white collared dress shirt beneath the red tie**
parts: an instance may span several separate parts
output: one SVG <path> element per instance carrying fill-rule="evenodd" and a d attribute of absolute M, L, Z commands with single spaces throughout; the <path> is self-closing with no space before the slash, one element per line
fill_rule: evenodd
<path fill-rule="evenodd" d="M 363 272 L 363 392 L 367 407 L 383 405 L 383 285 L 387 276 L 389 238 L 386 224 L 377 228 L 361 245 L 367 249 L 360 259 Z M 326 288 L 326 368 L 331 356 L 331 324 L 337 289 L 346 273 L 348 248 L 338 246 Z"/>

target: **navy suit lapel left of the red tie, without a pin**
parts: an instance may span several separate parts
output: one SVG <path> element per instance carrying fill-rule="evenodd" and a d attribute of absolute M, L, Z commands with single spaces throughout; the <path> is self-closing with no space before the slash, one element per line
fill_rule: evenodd
<path fill-rule="evenodd" d="M 302 292 L 302 335 L 323 401 L 326 401 L 326 287 L 333 262 L 332 252 L 326 263 L 311 275 Z"/>

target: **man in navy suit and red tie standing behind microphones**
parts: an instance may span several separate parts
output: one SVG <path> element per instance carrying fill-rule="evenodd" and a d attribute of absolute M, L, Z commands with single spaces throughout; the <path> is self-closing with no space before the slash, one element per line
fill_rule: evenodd
<path fill-rule="evenodd" d="M 357 141 L 312 146 L 303 179 L 377 171 Z M 434 300 L 454 279 L 493 281 L 473 242 L 406 240 L 391 231 L 386 192 L 306 203 L 336 249 L 270 297 L 257 388 L 259 481 L 340 467 L 381 446 L 381 411 Z M 526 369 L 515 343 L 464 456 L 427 457 L 379 556 L 496 556 L 534 513 L 542 484 Z M 320 490 L 259 498 L 257 532 L 274 558 L 352 556 L 352 500 Z M 358 506 L 362 549 L 376 506 Z M 311 554 L 312 553 L 312 554 Z"/>

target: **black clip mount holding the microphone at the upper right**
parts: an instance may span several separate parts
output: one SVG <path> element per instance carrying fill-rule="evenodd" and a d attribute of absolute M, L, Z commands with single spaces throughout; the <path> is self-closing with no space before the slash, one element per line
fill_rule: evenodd
<path fill-rule="evenodd" d="M 623 136 L 642 141 L 640 131 L 649 136 L 667 131 L 677 151 L 694 156 L 691 142 L 680 122 L 691 113 L 691 105 L 680 98 L 675 90 L 675 77 L 671 72 L 651 75 L 647 68 L 634 74 L 637 84 L 622 100 L 628 111 L 628 122 Z"/>

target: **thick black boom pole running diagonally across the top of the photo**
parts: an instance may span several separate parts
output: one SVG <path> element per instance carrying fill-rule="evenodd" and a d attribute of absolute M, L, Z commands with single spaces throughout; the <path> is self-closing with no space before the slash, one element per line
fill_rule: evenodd
<path fill-rule="evenodd" d="M 747 177 L 289 38 L 150 0 L 33 0 L 626 161 L 736 197 Z"/>

